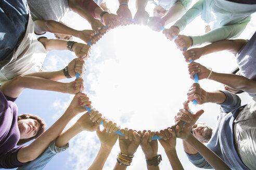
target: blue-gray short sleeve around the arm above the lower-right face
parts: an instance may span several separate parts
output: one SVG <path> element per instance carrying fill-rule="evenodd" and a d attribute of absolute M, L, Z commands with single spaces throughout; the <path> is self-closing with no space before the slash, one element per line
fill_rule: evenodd
<path fill-rule="evenodd" d="M 241 99 L 238 95 L 228 91 L 222 91 L 226 95 L 226 100 L 221 105 L 221 112 L 231 112 L 241 106 Z"/>

